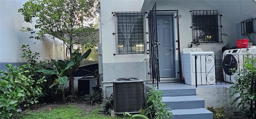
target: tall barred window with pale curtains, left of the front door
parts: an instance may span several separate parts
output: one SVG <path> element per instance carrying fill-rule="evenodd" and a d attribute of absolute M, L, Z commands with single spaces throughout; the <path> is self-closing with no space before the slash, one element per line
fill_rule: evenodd
<path fill-rule="evenodd" d="M 145 12 L 115 12 L 116 54 L 144 54 Z"/>

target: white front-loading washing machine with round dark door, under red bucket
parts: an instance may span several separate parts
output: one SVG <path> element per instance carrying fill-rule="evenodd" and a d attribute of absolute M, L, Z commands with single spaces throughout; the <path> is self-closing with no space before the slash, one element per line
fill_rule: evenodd
<path fill-rule="evenodd" d="M 244 57 L 252 58 L 256 56 L 256 48 L 241 48 L 225 50 L 222 57 L 224 81 L 236 83 L 238 71 L 244 69 Z M 235 69 L 235 70 L 230 70 Z M 242 73 L 240 75 L 243 75 Z"/>

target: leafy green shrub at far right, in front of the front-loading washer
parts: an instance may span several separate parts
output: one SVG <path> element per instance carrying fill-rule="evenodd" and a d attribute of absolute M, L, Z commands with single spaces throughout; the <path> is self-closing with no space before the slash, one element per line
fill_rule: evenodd
<path fill-rule="evenodd" d="M 256 57 L 244 58 L 244 70 L 238 72 L 236 83 L 231 89 L 234 89 L 231 97 L 238 95 L 232 104 L 238 100 L 238 107 L 242 108 L 244 117 L 256 118 Z"/>

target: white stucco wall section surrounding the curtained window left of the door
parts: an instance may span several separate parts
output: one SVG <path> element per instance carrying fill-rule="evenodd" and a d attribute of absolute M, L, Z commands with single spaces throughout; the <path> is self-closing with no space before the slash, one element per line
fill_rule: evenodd
<path fill-rule="evenodd" d="M 112 12 L 140 12 L 142 0 L 100 0 L 100 27 L 104 97 L 113 92 L 112 81 L 122 77 L 146 80 L 148 54 L 116 54 L 115 22 Z M 146 22 L 148 24 L 148 22 Z M 148 37 L 148 35 L 147 35 Z M 148 38 L 146 38 L 148 40 Z"/>

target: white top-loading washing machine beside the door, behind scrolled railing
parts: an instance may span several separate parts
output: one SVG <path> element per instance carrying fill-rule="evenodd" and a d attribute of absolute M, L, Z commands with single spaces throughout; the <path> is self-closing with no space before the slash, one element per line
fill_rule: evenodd
<path fill-rule="evenodd" d="M 184 48 L 181 55 L 182 76 L 189 85 L 216 84 L 214 52 Z"/>

